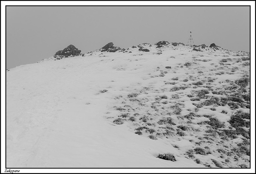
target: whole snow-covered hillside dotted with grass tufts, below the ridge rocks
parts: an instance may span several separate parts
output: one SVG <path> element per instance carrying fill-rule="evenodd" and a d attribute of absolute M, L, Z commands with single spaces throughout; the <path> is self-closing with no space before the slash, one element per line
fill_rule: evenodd
<path fill-rule="evenodd" d="M 250 167 L 250 55 L 143 47 L 8 70 L 7 167 Z"/>

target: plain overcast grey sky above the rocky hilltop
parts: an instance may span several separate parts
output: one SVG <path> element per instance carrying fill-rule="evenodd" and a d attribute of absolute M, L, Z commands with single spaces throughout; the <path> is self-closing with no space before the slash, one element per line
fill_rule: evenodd
<path fill-rule="evenodd" d="M 129 48 L 165 40 L 250 49 L 249 7 L 77 6 L 6 9 L 7 69 L 36 63 L 72 44 L 82 53 L 109 42 Z"/>

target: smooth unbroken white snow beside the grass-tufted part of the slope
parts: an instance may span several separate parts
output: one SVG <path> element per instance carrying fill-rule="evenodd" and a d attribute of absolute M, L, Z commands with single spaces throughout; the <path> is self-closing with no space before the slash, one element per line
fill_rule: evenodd
<path fill-rule="evenodd" d="M 150 77 L 160 74 L 158 66 L 174 71 L 198 52 L 99 53 L 23 65 L 7 73 L 7 167 L 205 167 L 180 155 L 176 162 L 156 158 L 179 152 L 170 142 L 140 137 L 129 124 L 105 118 L 115 96 L 136 87 L 161 88 L 159 78 Z M 212 55 L 203 58 L 219 61 Z M 177 68 L 169 78 L 184 71 Z M 108 91 L 100 93 L 104 89 Z M 190 146 L 182 142 L 179 146 Z"/>

